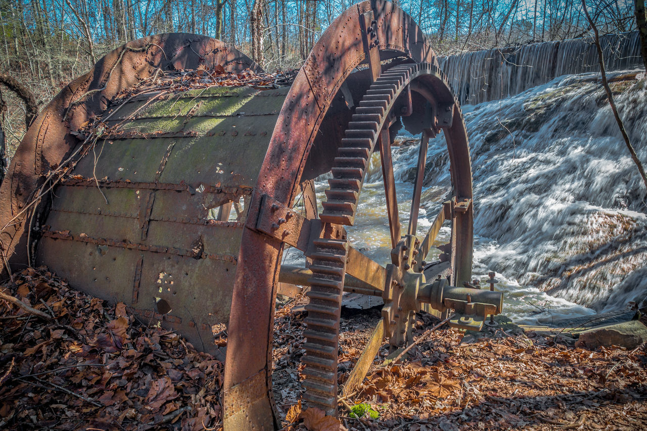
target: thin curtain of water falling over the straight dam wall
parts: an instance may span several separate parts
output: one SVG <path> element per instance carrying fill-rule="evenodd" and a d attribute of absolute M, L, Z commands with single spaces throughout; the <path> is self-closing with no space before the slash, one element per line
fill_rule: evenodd
<path fill-rule="evenodd" d="M 641 67 L 638 32 L 600 37 L 608 71 Z M 592 38 L 479 50 L 438 58 L 461 104 L 521 93 L 558 76 L 599 71 Z"/>

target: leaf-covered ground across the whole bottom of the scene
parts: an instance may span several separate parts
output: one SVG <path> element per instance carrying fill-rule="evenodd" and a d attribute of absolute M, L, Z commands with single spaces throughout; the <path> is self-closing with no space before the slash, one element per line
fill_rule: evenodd
<path fill-rule="evenodd" d="M 74 291 L 45 268 L 3 285 L 36 309 L 0 302 L 0 428 L 218 430 L 223 364 L 124 304 Z M 408 357 L 387 346 L 340 420 L 300 410 L 303 301 L 276 312 L 274 395 L 285 430 L 647 429 L 647 346 L 573 347 L 569 337 L 440 327 Z M 340 382 L 380 318 L 342 311 Z M 419 315 L 416 337 L 437 324 Z M 469 338 L 469 340 L 467 340 Z M 360 405 L 361 404 L 361 405 Z M 375 416 L 373 419 L 369 415 Z"/>

